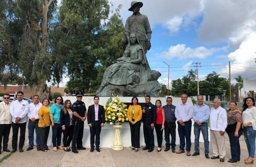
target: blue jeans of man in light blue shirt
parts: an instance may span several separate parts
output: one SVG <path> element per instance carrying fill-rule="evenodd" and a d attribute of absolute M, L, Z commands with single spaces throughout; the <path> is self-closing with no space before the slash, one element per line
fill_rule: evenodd
<path fill-rule="evenodd" d="M 204 141 L 204 154 L 209 154 L 209 140 L 208 140 L 208 125 L 206 123 L 202 123 L 201 126 L 194 124 L 194 135 L 195 135 L 195 152 L 199 153 L 199 137 L 200 131 L 203 135 Z"/>

